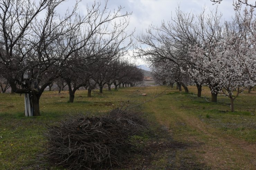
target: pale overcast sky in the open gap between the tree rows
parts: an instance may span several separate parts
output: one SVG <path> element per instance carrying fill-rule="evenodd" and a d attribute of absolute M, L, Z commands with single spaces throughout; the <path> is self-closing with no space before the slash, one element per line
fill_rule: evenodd
<path fill-rule="evenodd" d="M 75 0 L 69 0 L 63 4 L 66 7 L 71 7 Z M 80 14 L 86 8 L 86 4 L 90 6 L 93 0 L 82 0 L 80 2 Z M 98 1 L 96 1 L 98 2 Z M 105 1 L 101 1 L 104 4 Z M 172 13 L 180 6 L 180 9 L 193 14 L 201 13 L 202 9 L 207 12 L 215 10 L 222 13 L 223 19 L 230 20 L 234 16 L 234 7 L 232 0 L 223 0 L 220 4 L 213 5 L 210 0 L 109 0 L 109 10 L 117 9 L 118 6 L 124 7 L 123 12 L 132 12 L 130 16 L 129 31 L 135 28 L 135 37 L 142 31 L 148 28 L 149 24 L 161 25 L 161 21 L 170 21 Z M 255 0 L 252 0 L 255 2 Z M 143 61 L 137 61 L 138 64 L 144 64 Z"/>

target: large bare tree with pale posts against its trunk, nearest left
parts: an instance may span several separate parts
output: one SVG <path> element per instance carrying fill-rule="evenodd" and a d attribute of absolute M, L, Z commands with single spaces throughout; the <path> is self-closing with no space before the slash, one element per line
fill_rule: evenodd
<path fill-rule="evenodd" d="M 103 9 L 94 3 L 80 16 L 75 3 L 60 17 L 55 9 L 63 1 L 0 1 L 0 68 L 12 90 L 26 94 L 30 115 L 40 115 L 40 96 L 60 76 L 72 53 L 92 44 L 99 34 L 116 42 L 126 35 L 119 28 L 127 27 L 129 13 L 121 14 L 121 7 L 111 12 L 107 2 Z M 112 22 L 118 18 L 120 23 Z"/>

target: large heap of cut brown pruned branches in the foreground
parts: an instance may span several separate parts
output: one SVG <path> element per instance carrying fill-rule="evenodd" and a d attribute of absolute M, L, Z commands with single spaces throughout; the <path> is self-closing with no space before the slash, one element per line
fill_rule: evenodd
<path fill-rule="evenodd" d="M 146 121 L 130 111 L 112 110 L 108 116 L 68 116 L 57 126 L 47 126 L 47 151 L 51 163 L 68 169 L 108 168 L 121 161 Z"/>

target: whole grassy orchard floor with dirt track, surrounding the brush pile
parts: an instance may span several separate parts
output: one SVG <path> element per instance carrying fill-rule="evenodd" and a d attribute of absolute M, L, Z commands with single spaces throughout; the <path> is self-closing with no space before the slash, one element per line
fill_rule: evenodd
<path fill-rule="evenodd" d="M 0 169 L 63 169 L 41 163 L 44 152 L 45 124 L 55 124 L 66 114 L 103 115 L 116 108 L 134 106 L 144 112 L 152 132 L 134 136 L 141 152 L 115 169 L 256 169 L 256 92 L 239 94 L 235 112 L 230 101 L 218 95 L 209 103 L 209 88 L 203 87 L 202 98 L 196 87 L 190 94 L 167 87 L 133 87 L 112 91 L 77 91 L 74 103 L 68 103 L 68 92 L 44 92 L 40 98 L 40 117 L 24 117 L 24 97 L 0 94 Z M 147 96 L 141 96 L 147 93 Z M 195 93 L 195 94 L 193 94 Z M 128 102 L 129 100 L 129 102 Z"/>

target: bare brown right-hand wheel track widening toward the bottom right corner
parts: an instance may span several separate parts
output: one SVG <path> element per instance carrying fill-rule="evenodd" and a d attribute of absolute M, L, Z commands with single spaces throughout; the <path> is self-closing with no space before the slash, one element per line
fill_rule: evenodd
<path fill-rule="evenodd" d="M 216 130 L 207 126 L 207 124 L 199 119 L 187 117 L 184 113 L 181 114 L 183 114 L 184 120 L 186 120 L 190 127 L 203 132 L 211 139 L 211 141 L 205 143 L 203 150 L 205 151 L 205 161 L 211 162 L 214 169 L 229 169 L 229 166 L 234 166 L 235 168 L 235 164 L 241 166 L 239 169 L 254 170 L 256 168 L 256 161 L 254 159 L 255 144 L 250 144 L 227 135 L 224 138 L 220 137 L 218 136 L 219 133 L 214 133 Z M 211 147 L 210 143 L 219 143 L 219 147 Z"/>

